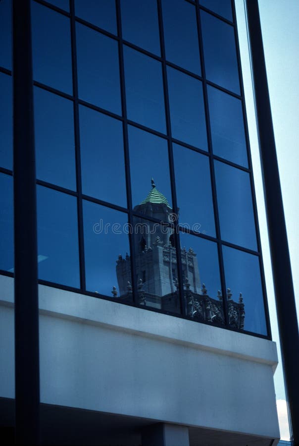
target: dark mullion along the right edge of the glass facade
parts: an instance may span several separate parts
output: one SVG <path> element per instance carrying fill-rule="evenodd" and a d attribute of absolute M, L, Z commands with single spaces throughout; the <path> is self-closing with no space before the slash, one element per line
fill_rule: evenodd
<path fill-rule="evenodd" d="M 242 96 L 242 111 L 243 111 L 243 120 L 244 120 L 244 128 L 245 128 L 248 167 L 250 170 L 249 179 L 250 179 L 251 196 L 252 196 L 253 216 L 254 216 L 254 223 L 255 223 L 255 234 L 256 234 L 256 241 L 257 241 L 257 250 L 260 254 L 259 255 L 259 267 L 260 267 L 261 284 L 262 284 L 262 292 L 263 292 L 263 303 L 264 303 L 264 309 L 265 309 L 267 335 L 271 339 L 272 336 L 271 336 L 270 316 L 269 316 L 269 308 L 268 308 L 264 265 L 263 265 L 263 260 L 262 260 L 261 239 L 260 239 L 260 233 L 259 233 L 257 205 L 256 205 L 256 194 L 255 194 L 255 187 L 254 187 L 252 160 L 251 160 L 251 152 L 250 152 L 250 144 L 249 144 L 249 129 L 248 129 L 248 122 L 247 122 L 247 112 L 246 112 L 245 93 L 244 93 L 244 85 L 243 85 L 243 75 L 242 75 L 242 65 L 241 65 L 241 56 L 240 56 L 240 45 L 239 45 L 239 37 L 238 37 L 235 0 L 231 0 L 231 3 L 232 3 L 235 41 L 236 41 L 236 53 L 237 53 L 238 70 L 239 70 L 240 90 L 241 90 L 241 96 Z"/>

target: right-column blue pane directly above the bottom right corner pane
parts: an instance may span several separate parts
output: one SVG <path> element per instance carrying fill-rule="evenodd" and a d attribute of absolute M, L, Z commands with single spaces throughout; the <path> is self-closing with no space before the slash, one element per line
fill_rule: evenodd
<path fill-rule="evenodd" d="M 249 174 L 215 161 L 215 176 L 222 240 L 256 250 Z"/>

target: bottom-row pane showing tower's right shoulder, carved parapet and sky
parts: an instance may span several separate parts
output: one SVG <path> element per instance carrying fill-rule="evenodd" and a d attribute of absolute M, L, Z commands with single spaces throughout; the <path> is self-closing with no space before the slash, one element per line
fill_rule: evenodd
<path fill-rule="evenodd" d="M 186 313 L 199 322 L 223 325 L 216 243 L 180 233 Z"/>

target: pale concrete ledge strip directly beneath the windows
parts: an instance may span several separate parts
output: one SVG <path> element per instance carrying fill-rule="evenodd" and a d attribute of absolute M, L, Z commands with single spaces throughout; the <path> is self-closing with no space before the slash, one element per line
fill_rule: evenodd
<path fill-rule="evenodd" d="M 0 277 L 0 303 L 13 305 L 13 279 Z M 39 285 L 40 313 L 201 350 L 248 359 L 276 369 L 276 343 L 197 322 L 146 311 L 50 286 Z"/>

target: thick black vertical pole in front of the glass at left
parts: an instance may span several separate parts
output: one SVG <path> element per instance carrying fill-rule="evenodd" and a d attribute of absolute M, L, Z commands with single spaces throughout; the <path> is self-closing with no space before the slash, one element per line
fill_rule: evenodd
<path fill-rule="evenodd" d="M 15 443 L 40 444 L 39 301 L 31 1 L 13 0 Z"/>

